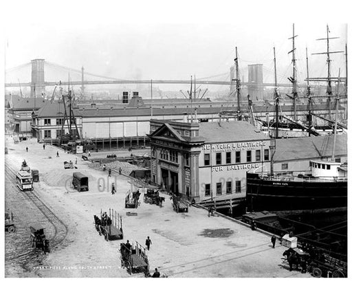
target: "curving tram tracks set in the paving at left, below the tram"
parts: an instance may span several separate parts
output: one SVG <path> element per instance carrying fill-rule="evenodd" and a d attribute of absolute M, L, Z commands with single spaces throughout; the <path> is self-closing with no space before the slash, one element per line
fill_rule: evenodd
<path fill-rule="evenodd" d="M 52 238 L 50 238 L 50 249 L 54 249 L 60 246 L 68 235 L 68 227 L 67 225 L 56 215 L 52 210 L 41 200 L 41 198 L 33 191 L 21 191 L 16 186 L 16 175 L 17 172 L 9 166 L 8 163 L 5 163 L 5 173 L 7 173 L 7 177 L 11 177 L 12 181 L 10 182 L 12 188 L 22 194 L 23 199 L 27 199 L 32 203 L 39 212 L 47 219 L 47 221 L 52 224 L 54 229 L 54 234 Z M 9 256 L 6 258 L 7 261 L 11 263 L 24 261 L 30 256 L 30 254 L 34 254 L 35 249 L 31 249 L 27 252 L 21 252 L 21 254 L 17 254 L 16 256 Z"/>

